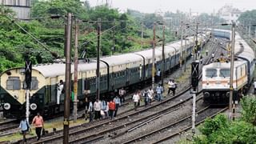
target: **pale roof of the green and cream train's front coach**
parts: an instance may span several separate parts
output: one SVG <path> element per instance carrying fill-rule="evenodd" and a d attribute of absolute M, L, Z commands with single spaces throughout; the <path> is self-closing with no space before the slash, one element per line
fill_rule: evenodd
<path fill-rule="evenodd" d="M 95 70 L 97 67 L 96 62 L 78 62 L 78 71 Z M 100 62 L 100 68 L 106 68 L 104 62 Z M 44 77 L 56 77 L 58 75 L 64 75 L 66 71 L 65 63 L 52 63 L 32 66 L 32 69 L 38 70 Z M 74 63 L 71 64 L 71 73 L 74 73 Z"/>

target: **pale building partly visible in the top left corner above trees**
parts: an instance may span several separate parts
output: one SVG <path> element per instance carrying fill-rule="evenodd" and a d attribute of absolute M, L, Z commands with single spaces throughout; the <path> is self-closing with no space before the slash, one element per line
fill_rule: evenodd
<path fill-rule="evenodd" d="M 30 18 L 31 0 L 0 0 L 0 4 L 13 10 L 16 13 L 15 18 L 22 20 Z"/>

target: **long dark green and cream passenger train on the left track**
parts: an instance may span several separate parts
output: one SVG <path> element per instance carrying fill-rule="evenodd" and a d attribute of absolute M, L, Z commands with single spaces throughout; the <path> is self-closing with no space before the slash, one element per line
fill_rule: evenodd
<path fill-rule="evenodd" d="M 201 44 L 205 44 L 210 33 L 198 36 Z M 187 57 L 194 46 L 193 38 L 183 42 Z M 200 43 L 198 43 L 200 44 Z M 172 42 L 165 46 L 165 70 L 174 69 L 179 64 L 181 42 Z M 121 87 L 136 86 L 140 82 L 150 81 L 152 71 L 152 49 L 129 54 L 113 55 L 100 58 L 100 93 L 109 95 Z M 155 49 L 155 69 L 161 69 L 162 47 Z M 78 62 L 78 106 L 85 105 L 86 96 L 93 98 L 96 94 L 96 61 Z M 12 68 L 0 75 L 0 101 L 6 118 L 19 118 L 26 111 L 26 90 L 24 67 Z M 72 82 L 74 64 L 71 64 Z M 32 66 L 32 82 L 30 90 L 30 114 L 40 112 L 51 116 L 64 110 L 64 94 L 57 104 L 57 86 L 65 80 L 65 63 L 40 64 Z M 71 86 L 73 87 L 73 86 Z M 87 93 L 87 95 L 85 94 Z"/>

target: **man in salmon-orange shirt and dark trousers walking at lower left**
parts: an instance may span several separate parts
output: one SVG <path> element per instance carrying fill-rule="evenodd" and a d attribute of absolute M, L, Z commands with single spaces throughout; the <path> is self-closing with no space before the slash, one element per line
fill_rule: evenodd
<path fill-rule="evenodd" d="M 35 126 L 35 133 L 37 134 L 37 141 L 40 140 L 41 138 L 41 133 L 42 133 L 42 128 L 43 128 L 43 118 L 40 115 L 40 113 L 38 113 L 36 116 L 34 116 L 32 124 L 34 124 Z"/>

